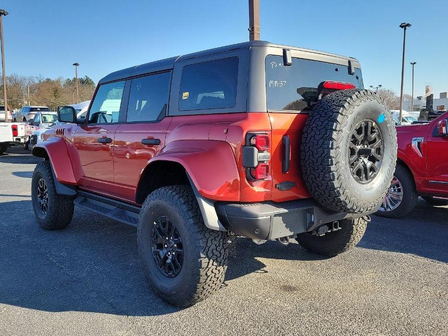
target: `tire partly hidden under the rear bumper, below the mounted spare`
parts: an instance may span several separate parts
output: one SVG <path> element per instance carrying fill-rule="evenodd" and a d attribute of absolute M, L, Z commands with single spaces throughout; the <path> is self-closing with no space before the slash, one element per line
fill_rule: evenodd
<path fill-rule="evenodd" d="M 340 230 L 327 232 L 324 236 L 300 233 L 296 241 L 309 252 L 333 257 L 359 243 L 366 232 L 367 220 L 364 217 L 355 220 L 342 219 L 339 226 Z"/>

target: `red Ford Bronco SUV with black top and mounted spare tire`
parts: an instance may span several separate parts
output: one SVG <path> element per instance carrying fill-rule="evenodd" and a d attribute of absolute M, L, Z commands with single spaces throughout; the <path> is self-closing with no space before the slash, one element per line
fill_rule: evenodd
<path fill-rule="evenodd" d="M 235 235 L 355 246 L 396 163 L 358 61 L 263 41 L 111 73 L 85 120 L 58 118 L 32 151 L 37 222 L 64 228 L 77 205 L 138 227 L 147 279 L 179 306 L 221 286 Z"/>

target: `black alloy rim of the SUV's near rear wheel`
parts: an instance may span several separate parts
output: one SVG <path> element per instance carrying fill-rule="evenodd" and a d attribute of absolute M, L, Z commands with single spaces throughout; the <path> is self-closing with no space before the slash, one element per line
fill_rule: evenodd
<path fill-rule="evenodd" d="M 163 275 L 173 278 L 179 274 L 184 261 L 182 239 L 176 225 L 167 216 L 160 216 L 154 221 L 151 249 Z"/>

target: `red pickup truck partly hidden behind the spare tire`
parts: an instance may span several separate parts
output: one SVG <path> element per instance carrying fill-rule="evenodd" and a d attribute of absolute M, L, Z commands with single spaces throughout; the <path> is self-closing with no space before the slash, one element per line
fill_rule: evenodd
<path fill-rule="evenodd" d="M 377 214 L 408 214 L 418 196 L 432 205 L 448 205 L 447 126 L 448 112 L 432 122 L 397 126 L 397 167 Z"/>

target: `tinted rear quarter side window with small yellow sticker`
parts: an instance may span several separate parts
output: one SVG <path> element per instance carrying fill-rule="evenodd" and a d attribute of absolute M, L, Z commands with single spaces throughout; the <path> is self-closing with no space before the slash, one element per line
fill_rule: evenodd
<path fill-rule="evenodd" d="M 238 57 L 186 65 L 182 71 L 179 110 L 234 107 Z"/>

